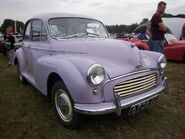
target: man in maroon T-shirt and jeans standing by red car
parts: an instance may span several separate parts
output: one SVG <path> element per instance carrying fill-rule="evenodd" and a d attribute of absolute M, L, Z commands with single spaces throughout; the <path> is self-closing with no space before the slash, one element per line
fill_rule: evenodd
<path fill-rule="evenodd" d="M 167 26 L 163 23 L 161 16 L 166 9 L 166 3 L 161 1 L 158 3 L 157 11 L 150 20 L 150 49 L 151 51 L 163 53 L 164 48 L 164 34 L 168 30 Z"/>

